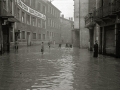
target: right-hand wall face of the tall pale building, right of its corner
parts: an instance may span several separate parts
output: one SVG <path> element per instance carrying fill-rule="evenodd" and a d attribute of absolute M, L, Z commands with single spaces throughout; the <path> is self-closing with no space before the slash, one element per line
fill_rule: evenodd
<path fill-rule="evenodd" d="M 88 0 L 80 0 L 80 47 L 88 48 L 89 30 L 85 28 L 84 17 L 88 14 Z"/>

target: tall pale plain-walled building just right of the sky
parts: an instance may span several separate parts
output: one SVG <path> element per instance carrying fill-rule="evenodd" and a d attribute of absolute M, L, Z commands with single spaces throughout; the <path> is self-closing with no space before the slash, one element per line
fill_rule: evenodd
<path fill-rule="evenodd" d="M 84 17 L 88 13 L 88 0 L 74 0 L 73 46 L 87 48 L 89 32 Z"/>

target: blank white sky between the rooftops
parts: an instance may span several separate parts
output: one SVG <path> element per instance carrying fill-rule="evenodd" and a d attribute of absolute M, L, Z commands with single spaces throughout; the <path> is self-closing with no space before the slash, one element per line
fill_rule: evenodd
<path fill-rule="evenodd" d="M 56 6 L 65 18 L 73 17 L 74 1 L 73 0 L 53 0 L 53 5 Z"/>

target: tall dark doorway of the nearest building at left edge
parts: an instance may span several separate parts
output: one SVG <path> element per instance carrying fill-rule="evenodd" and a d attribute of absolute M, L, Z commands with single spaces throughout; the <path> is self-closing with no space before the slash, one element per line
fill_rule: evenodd
<path fill-rule="evenodd" d="M 10 51 L 10 42 L 9 42 L 9 28 L 7 25 L 2 26 L 3 31 L 3 51 Z"/>

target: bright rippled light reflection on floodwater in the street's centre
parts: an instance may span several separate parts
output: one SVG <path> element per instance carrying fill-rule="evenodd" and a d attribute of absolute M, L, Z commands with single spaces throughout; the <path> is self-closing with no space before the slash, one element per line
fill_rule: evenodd
<path fill-rule="evenodd" d="M 56 55 L 54 55 L 56 56 Z M 40 74 L 32 89 L 40 90 L 73 90 L 73 70 L 74 64 L 70 54 L 66 51 L 60 58 L 52 57 L 52 60 L 44 60 L 41 69 L 45 72 Z M 43 65 L 46 64 L 47 65 Z"/>

